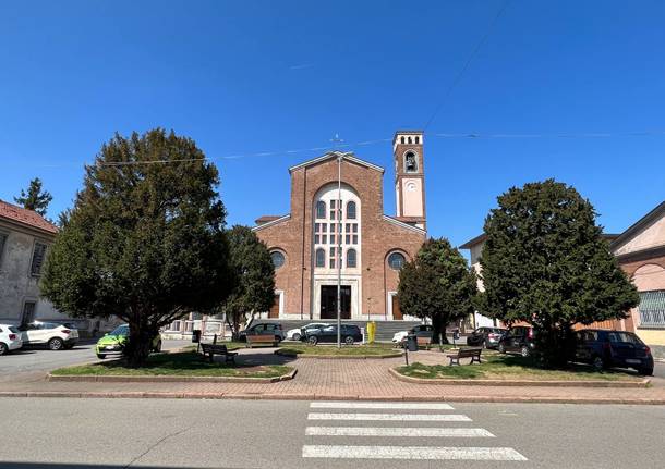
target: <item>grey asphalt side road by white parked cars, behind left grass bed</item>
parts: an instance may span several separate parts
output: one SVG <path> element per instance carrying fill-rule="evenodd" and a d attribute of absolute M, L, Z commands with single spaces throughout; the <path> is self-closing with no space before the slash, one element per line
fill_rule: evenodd
<path fill-rule="evenodd" d="M 97 361 L 93 347 L 96 342 L 82 342 L 71 349 L 48 350 L 45 347 L 24 347 L 0 357 L 0 380 L 16 373 L 49 371 L 55 368 Z M 164 341 L 162 348 L 173 349 L 190 345 L 188 341 Z"/>

